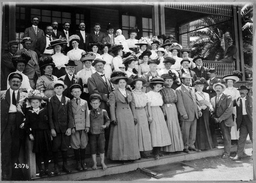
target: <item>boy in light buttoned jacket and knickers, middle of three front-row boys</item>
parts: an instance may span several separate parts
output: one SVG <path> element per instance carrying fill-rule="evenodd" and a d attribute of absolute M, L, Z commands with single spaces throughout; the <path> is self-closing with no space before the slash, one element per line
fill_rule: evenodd
<path fill-rule="evenodd" d="M 70 87 L 71 95 L 74 98 L 69 103 L 69 108 L 72 109 L 72 118 L 75 127 L 72 128 L 70 145 L 74 149 L 75 159 L 78 171 L 87 170 L 85 163 L 86 146 L 88 144 L 88 132 L 90 129 L 90 116 L 88 103 L 80 98 L 82 87 L 74 84 Z M 71 121 L 72 122 L 72 121 Z"/>

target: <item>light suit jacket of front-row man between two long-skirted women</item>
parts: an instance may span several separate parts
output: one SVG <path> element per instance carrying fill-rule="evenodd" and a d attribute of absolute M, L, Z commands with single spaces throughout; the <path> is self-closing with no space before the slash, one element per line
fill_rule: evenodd
<path fill-rule="evenodd" d="M 195 117 L 198 119 L 198 111 L 201 111 L 201 106 L 196 99 L 195 89 L 190 88 L 191 93 L 181 85 L 175 92 L 177 95 L 176 106 L 180 114 L 181 121 L 193 121 Z M 188 119 L 183 119 L 183 115 L 187 115 Z"/>

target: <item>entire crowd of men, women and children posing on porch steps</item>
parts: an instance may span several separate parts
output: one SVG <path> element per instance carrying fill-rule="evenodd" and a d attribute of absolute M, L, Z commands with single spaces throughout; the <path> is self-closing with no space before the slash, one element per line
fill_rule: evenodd
<path fill-rule="evenodd" d="M 61 34 L 56 21 L 45 35 L 38 22 L 33 17 L 32 27 L 25 30 L 23 49 L 10 41 L 10 53 L 2 57 L 2 179 L 12 177 L 25 132 L 33 141 L 40 176 L 52 174 L 50 151 L 54 173 L 60 173 L 59 151 L 62 170 L 71 172 L 69 146 L 79 171 L 87 170 L 88 144 L 92 168 L 98 168 L 98 152 L 103 170 L 105 153 L 106 158 L 127 163 L 149 158 L 152 150 L 159 160 L 163 152 L 212 149 L 218 146 L 216 125 L 224 140 L 222 158 L 229 157 L 232 134 L 238 133 L 233 160 L 243 156 L 248 134 L 252 141 L 252 99 L 246 86 L 233 87 L 240 72 L 223 77 L 226 87 L 215 68 L 204 67 L 201 56 L 189 58 L 190 50 L 173 36 L 137 40 L 138 30 L 130 29 L 130 39 L 125 40 L 121 30 L 113 34 L 111 24 L 108 35 L 101 33 L 98 23 L 90 35 L 84 23 L 73 35 L 64 23 Z"/>

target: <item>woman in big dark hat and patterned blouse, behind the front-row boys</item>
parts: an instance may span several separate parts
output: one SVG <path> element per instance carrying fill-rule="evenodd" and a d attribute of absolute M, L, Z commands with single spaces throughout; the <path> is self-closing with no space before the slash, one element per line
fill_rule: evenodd
<path fill-rule="evenodd" d="M 43 91 L 45 96 L 50 98 L 55 95 L 52 84 L 58 80 L 55 75 L 52 75 L 53 68 L 55 67 L 52 57 L 49 55 L 42 56 L 39 59 L 39 67 L 40 70 L 44 71 L 44 74 L 38 77 L 36 89 Z"/>

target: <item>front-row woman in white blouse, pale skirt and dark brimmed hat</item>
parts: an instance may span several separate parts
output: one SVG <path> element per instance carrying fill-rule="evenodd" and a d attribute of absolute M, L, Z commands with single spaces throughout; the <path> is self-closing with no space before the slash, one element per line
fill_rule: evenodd
<path fill-rule="evenodd" d="M 163 99 L 159 91 L 163 85 L 167 85 L 164 83 L 164 80 L 161 77 L 155 77 L 150 82 L 150 87 L 153 90 L 146 93 L 148 121 L 150 122 L 151 141 L 155 160 L 159 160 L 159 156 L 162 156 L 160 153 L 161 147 L 172 144 L 168 127 L 160 108 L 163 105 Z"/>

